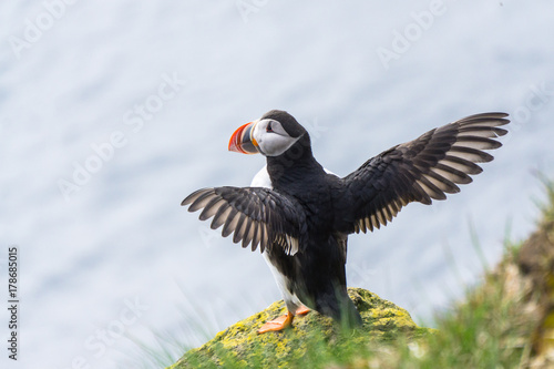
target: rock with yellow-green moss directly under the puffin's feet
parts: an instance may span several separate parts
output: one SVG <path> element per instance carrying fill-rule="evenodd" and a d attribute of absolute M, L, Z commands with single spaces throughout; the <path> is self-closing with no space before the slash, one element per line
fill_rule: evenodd
<path fill-rule="evenodd" d="M 196 367 L 293 367 L 310 356 L 371 347 L 396 339 L 413 340 L 432 329 L 418 327 L 407 310 L 362 288 L 349 288 L 348 295 L 362 318 L 358 329 L 345 331 L 331 318 L 311 311 L 296 317 L 291 328 L 258 335 L 264 322 L 286 312 L 283 300 L 238 321 L 204 346 L 192 349 L 172 369 Z M 316 358 L 312 358 L 316 359 Z M 305 363 L 307 361 L 304 361 Z"/>

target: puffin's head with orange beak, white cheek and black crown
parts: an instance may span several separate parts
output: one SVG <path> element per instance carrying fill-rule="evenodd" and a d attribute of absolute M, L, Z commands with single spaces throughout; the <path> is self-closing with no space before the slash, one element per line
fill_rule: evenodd
<path fill-rule="evenodd" d="M 289 113 L 271 110 L 259 120 L 238 127 L 230 137 L 229 151 L 279 156 L 296 143 L 309 148 L 308 132 Z"/>

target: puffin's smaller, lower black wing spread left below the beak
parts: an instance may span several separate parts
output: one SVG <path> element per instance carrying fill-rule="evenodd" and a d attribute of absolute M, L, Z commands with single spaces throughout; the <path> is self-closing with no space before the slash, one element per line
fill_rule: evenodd
<path fill-rule="evenodd" d="M 301 206 L 294 199 L 263 187 L 215 187 L 198 189 L 188 195 L 181 205 L 191 205 L 188 212 L 204 208 L 201 221 L 214 217 L 212 229 L 223 226 L 222 235 L 232 233 L 235 244 L 243 247 L 258 244 L 261 253 L 274 245 L 288 255 L 296 254 L 304 245 L 306 217 Z"/>

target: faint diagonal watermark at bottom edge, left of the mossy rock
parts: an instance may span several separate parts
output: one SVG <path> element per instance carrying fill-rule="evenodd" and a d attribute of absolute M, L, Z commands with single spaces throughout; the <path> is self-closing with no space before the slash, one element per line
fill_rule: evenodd
<path fill-rule="evenodd" d="M 124 337 L 129 328 L 150 309 L 147 305 L 138 300 L 138 297 L 133 300 L 125 299 L 123 303 L 125 307 L 120 310 L 116 319 L 109 321 L 86 337 L 83 347 L 88 352 L 73 357 L 68 369 L 92 369 L 91 362 L 102 358 L 107 349 Z"/>

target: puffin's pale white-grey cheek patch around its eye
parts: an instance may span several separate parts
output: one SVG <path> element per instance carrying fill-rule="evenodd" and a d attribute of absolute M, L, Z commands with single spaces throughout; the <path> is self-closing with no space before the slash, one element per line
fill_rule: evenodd
<path fill-rule="evenodd" d="M 283 125 L 271 119 L 253 122 L 250 137 L 265 156 L 279 156 L 290 148 L 300 137 L 291 137 Z"/>

